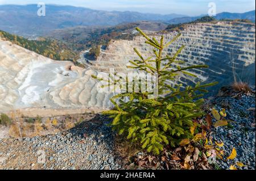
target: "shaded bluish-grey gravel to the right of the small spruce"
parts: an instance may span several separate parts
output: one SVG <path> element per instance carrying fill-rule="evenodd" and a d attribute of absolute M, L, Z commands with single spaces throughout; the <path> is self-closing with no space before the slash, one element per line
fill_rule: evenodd
<path fill-rule="evenodd" d="M 216 110 L 226 109 L 226 119 L 236 121 L 226 127 L 218 127 L 213 130 L 213 138 L 224 142 L 226 155 L 237 150 L 237 157 L 234 160 L 218 160 L 217 164 L 221 169 L 229 169 L 230 165 L 242 162 L 245 167 L 242 169 L 255 169 L 255 88 L 254 93 L 241 94 L 232 98 L 230 96 L 216 97 L 210 102 Z M 214 120 L 213 120 L 214 121 Z"/>

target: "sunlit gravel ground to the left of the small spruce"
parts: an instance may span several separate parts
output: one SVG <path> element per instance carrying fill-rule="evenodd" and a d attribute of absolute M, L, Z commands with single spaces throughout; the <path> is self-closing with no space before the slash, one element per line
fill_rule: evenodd
<path fill-rule="evenodd" d="M 69 131 L 0 140 L 0 169 L 121 169 L 108 119 L 96 116 Z"/>

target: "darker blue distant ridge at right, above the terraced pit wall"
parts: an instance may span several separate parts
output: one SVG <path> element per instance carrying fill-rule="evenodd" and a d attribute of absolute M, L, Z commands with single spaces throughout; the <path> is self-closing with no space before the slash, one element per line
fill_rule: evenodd
<path fill-rule="evenodd" d="M 184 16 L 184 17 L 178 17 L 174 18 L 168 21 L 169 24 L 179 24 L 179 23 L 188 23 L 192 22 L 193 20 L 199 19 L 205 15 L 201 16 Z M 221 20 L 221 19 L 248 19 L 251 20 L 251 22 L 255 23 L 255 10 L 248 11 L 244 13 L 232 13 L 232 12 L 221 12 L 214 16 L 215 19 Z"/>

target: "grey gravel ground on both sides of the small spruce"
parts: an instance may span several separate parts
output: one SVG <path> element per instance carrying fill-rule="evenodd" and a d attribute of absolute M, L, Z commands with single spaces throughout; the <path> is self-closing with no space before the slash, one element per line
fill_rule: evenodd
<path fill-rule="evenodd" d="M 236 121 L 213 128 L 212 136 L 224 142 L 228 156 L 237 150 L 234 160 L 217 160 L 220 169 L 242 162 L 242 169 L 255 169 L 255 89 L 254 93 L 218 96 L 210 107 L 225 108 L 226 119 Z M 213 119 L 213 122 L 216 121 Z M 96 115 L 69 131 L 32 138 L 0 140 L 0 169 L 123 169 L 122 159 L 114 154 L 114 135 L 105 116 Z"/>

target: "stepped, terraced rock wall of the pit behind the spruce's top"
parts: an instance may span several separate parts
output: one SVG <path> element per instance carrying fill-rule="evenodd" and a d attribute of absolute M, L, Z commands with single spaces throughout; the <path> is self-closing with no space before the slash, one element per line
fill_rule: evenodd
<path fill-rule="evenodd" d="M 174 54 L 181 45 L 186 48 L 178 57 L 187 62 L 183 66 L 207 64 L 209 69 L 194 70 L 199 78 L 181 76 L 180 83 L 195 83 L 197 81 L 220 82 L 214 90 L 239 80 L 255 85 L 255 24 L 218 22 L 188 24 L 181 31 L 182 37 L 166 49 L 166 54 Z M 177 32 L 167 33 L 166 41 L 171 40 Z M 156 38 L 160 39 L 159 36 Z M 144 57 L 152 56 L 150 45 L 144 44 L 144 38 L 135 37 L 133 41 L 113 41 L 108 49 L 102 50 L 97 61 L 91 62 L 92 69 L 127 72 L 129 60 L 138 58 L 133 48 L 136 47 Z M 212 94 L 216 91 L 211 90 Z"/>

